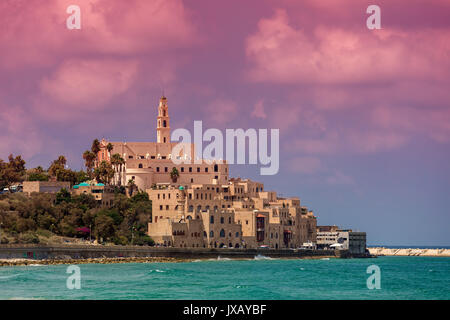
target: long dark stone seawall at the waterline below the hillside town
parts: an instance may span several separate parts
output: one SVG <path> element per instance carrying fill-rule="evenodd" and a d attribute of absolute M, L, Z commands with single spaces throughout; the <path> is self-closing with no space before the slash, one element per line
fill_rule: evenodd
<path fill-rule="evenodd" d="M 344 250 L 204 249 L 98 245 L 1 245 L 0 259 L 95 259 L 170 257 L 178 259 L 350 257 Z"/>

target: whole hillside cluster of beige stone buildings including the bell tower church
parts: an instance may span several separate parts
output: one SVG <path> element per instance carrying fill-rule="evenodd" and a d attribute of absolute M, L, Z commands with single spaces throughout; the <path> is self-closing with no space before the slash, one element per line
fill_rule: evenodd
<path fill-rule="evenodd" d="M 152 200 L 148 234 L 159 245 L 174 247 L 298 248 L 316 241 L 316 217 L 299 198 L 281 198 L 262 183 L 230 179 L 225 161 L 195 159 L 195 146 L 178 154 L 170 141 L 167 99 L 158 105 L 156 142 L 101 143 L 99 160 L 119 153 L 125 160 L 120 180 L 134 180 Z M 101 158 L 101 159 L 100 159 Z M 174 164 L 173 160 L 200 162 Z M 179 177 L 173 181 L 170 172 Z"/>

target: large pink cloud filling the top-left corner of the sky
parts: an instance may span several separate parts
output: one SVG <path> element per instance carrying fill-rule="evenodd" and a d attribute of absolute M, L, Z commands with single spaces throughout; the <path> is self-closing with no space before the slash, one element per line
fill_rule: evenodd
<path fill-rule="evenodd" d="M 164 52 L 198 42 L 181 0 L 80 2 L 81 30 L 68 30 L 71 0 L 1 1 L 1 65 L 51 66 L 79 54 Z"/>

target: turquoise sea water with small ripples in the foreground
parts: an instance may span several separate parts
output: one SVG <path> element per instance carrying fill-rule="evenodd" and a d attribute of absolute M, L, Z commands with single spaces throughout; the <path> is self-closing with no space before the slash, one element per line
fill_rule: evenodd
<path fill-rule="evenodd" d="M 381 289 L 366 269 L 381 269 Z M 82 264 L 69 290 L 66 265 L 0 268 L 0 299 L 446 299 L 450 258 L 207 260 Z"/>

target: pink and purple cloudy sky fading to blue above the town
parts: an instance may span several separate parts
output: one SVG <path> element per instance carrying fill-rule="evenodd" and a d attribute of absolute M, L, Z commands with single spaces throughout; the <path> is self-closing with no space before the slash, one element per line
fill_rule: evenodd
<path fill-rule="evenodd" d="M 278 175 L 231 174 L 319 224 L 450 245 L 449 1 L 2 0 L 0 24 L 0 158 L 78 170 L 94 138 L 154 141 L 164 90 L 173 129 L 279 128 Z"/>

